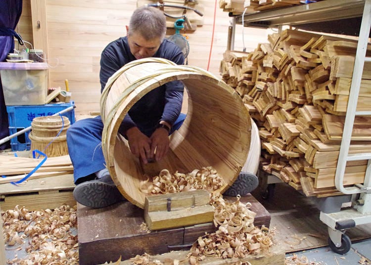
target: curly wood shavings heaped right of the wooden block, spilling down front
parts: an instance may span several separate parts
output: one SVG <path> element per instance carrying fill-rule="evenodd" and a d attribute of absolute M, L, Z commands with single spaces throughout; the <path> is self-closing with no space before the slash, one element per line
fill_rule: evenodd
<path fill-rule="evenodd" d="M 197 265 L 206 257 L 220 259 L 243 258 L 247 255 L 262 253 L 270 255 L 269 248 L 273 245 L 275 230 L 254 226 L 256 213 L 250 211 L 251 204 L 242 204 L 239 196 L 233 203 L 226 202 L 220 194 L 211 195 L 211 204 L 215 207 L 214 223 L 219 225 L 212 234 L 199 237 L 190 249 L 185 260 L 168 260 L 161 262 L 148 254 L 137 255 L 130 259 L 133 264 L 140 265 L 178 265 L 188 262 Z M 236 265 L 248 265 L 249 262 L 237 262 Z"/>

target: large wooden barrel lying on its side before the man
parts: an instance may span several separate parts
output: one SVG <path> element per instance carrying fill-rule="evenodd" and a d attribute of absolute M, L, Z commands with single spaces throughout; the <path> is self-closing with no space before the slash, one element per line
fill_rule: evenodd
<path fill-rule="evenodd" d="M 102 150 L 116 186 L 140 208 L 144 207 L 145 194 L 139 186 L 146 179 L 146 167 L 130 152 L 128 141 L 118 135 L 118 129 L 142 96 L 175 80 L 184 83 L 188 94 L 186 119 L 170 135 L 170 150 L 155 162 L 157 169 L 189 173 L 212 166 L 226 182 L 219 189 L 223 192 L 238 176 L 249 152 L 250 116 L 240 96 L 222 80 L 200 68 L 160 58 L 126 64 L 108 80 L 100 99 Z"/>

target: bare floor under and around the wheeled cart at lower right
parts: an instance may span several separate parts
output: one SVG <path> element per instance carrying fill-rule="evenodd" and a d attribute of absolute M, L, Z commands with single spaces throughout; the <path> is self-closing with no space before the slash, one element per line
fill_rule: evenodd
<path fill-rule="evenodd" d="M 327 246 L 327 227 L 320 221 L 320 211 L 311 198 L 285 183 L 277 183 L 268 200 L 261 197 L 258 189 L 252 195 L 271 213 L 271 228 L 277 228 L 277 244 L 284 247 L 286 258 L 295 254 L 306 256 L 314 264 L 371 265 L 371 224 L 348 229 L 351 250 L 338 255 Z"/>

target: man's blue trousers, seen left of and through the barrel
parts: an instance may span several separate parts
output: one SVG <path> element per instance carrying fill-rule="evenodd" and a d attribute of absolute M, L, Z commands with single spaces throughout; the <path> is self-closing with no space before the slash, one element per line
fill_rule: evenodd
<path fill-rule="evenodd" d="M 185 120 L 181 113 L 170 134 L 178 130 Z M 75 122 L 67 130 L 68 153 L 74 166 L 74 182 L 105 168 L 101 148 L 103 123 L 100 116 Z"/>

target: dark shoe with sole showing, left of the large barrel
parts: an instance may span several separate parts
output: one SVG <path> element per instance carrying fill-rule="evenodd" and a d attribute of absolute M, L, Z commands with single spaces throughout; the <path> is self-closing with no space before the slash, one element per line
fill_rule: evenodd
<path fill-rule="evenodd" d="M 91 208 L 103 208 L 125 200 L 109 175 L 78 184 L 73 196 L 78 203 Z"/>

